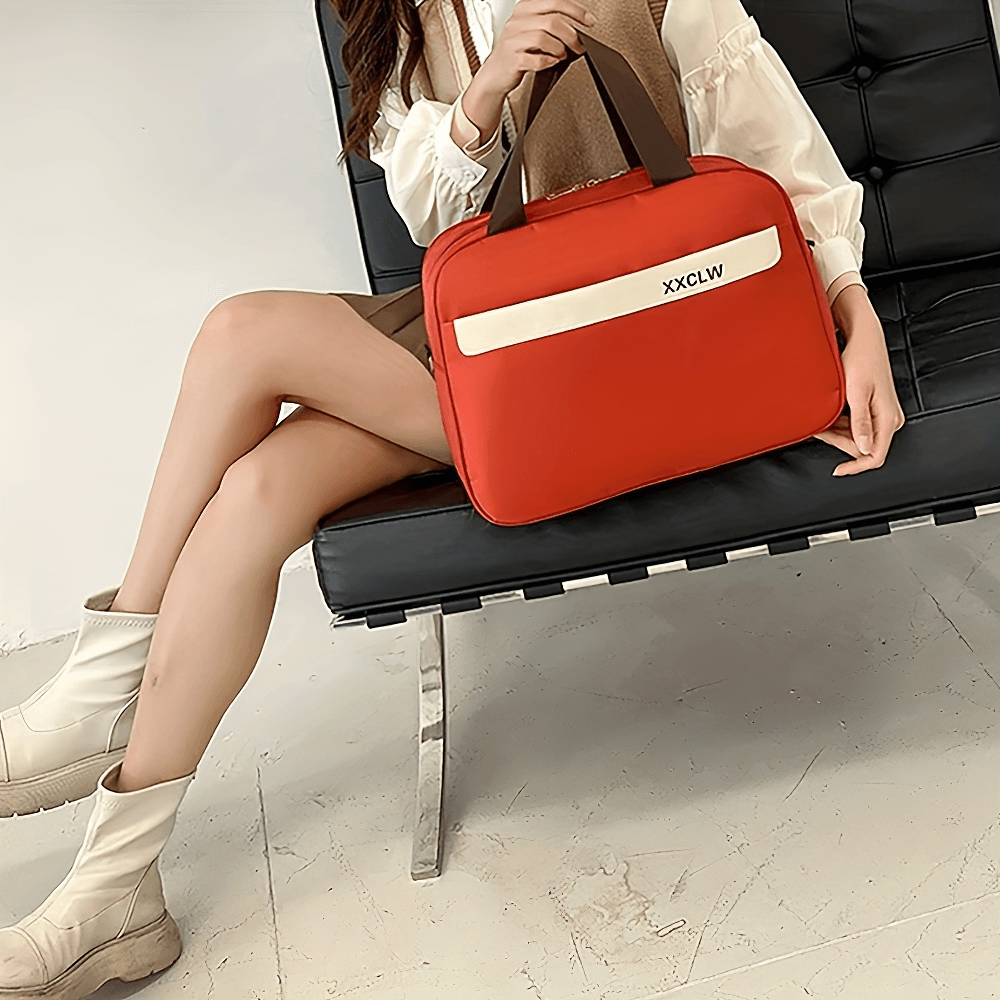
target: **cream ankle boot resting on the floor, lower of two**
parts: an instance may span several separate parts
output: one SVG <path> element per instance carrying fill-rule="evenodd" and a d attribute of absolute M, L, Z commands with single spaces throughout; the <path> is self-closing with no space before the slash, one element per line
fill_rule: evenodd
<path fill-rule="evenodd" d="M 0 930 L 2 1000 L 78 1000 L 109 979 L 131 982 L 181 953 L 157 860 L 195 772 L 113 792 L 121 764 L 101 775 L 83 846 L 48 899 Z"/>

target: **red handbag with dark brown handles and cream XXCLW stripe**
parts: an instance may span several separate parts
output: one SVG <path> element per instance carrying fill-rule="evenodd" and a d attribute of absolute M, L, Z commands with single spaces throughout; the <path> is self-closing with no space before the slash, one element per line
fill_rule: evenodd
<path fill-rule="evenodd" d="M 423 260 L 445 434 L 498 525 L 806 440 L 846 398 L 784 189 L 737 160 L 688 160 L 624 57 L 580 38 L 630 169 L 525 206 L 522 134 L 483 212 Z M 536 74 L 525 132 L 575 58 Z"/>

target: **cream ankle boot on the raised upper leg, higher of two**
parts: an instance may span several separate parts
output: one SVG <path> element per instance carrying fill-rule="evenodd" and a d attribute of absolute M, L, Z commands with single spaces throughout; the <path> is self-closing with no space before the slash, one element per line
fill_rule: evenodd
<path fill-rule="evenodd" d="M 82 799 L 125 756 L 158 616 L 108 611 L 117 593 L 87 598 L 62 669 L 0 712 L 0 816 Z"/>

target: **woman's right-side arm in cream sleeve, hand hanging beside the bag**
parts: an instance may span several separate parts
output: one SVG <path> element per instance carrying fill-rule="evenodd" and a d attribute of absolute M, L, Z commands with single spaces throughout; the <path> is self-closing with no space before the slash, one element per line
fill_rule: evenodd
<path fill-rule="evenodd" d="M 739 0 L 670 0 L 664 51 L 681 79 L 691 152 L 731 156 L 774 177 L 788 193 L 847 346 L 842 360 L 850 417 L 816 436 L 853 461 L 834 475 L 885 462 L 903 411 L 882 324 L 860 268 L 864 189 L 830 140 L 777 52 Z"/>

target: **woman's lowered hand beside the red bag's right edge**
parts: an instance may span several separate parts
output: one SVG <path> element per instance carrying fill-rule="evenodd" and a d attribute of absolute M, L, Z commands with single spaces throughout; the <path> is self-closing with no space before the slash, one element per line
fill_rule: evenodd
<path fill-rule="evenodd" d="M 841 358 L 851 415 L 840 416 L 816 437 L 854 459 L 838 465 L 833 474 L 853 476 L 885 462 L 892 436 L 906 418 L 896 398 L 882 323 L 862 285 L 848 285 L 837 296 L 833 318 L 847 339 Z"/>

